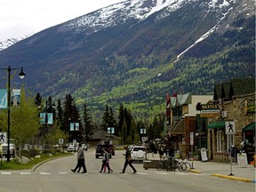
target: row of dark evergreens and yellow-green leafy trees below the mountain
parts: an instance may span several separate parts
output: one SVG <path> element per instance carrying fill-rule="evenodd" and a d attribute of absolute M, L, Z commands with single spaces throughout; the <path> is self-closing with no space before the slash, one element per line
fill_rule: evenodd
<path fill-rule="evenodd" d="M 43 122 L 40 114 L 53 117 L 53 121 Z M 119 138 L 120 144 L 139 144 L 141 137 L 148 140 L 162 138 L 164 136 L 164 117 L 154 117 L 152 123 L 148 118 L 137 119 L 132 111 L 120 104 L 117 112 L 105 105 L 105 110 L 100 118 L 93 118 L 92 111 L 84 103 L 83 108 L 76 108 L 76 102 L 71 94 L 67 94 L 64 100 L 53 100 L 52 97 L 44 99 L 39 92 L 36 96 L 26 94 L 22 87 L 20 103 L 18 107 L 11 106 L 11 137 L 18 148 L 24 148 L 25 144 L 53 148 L 60 139 L 65 144 L 76 142 L 88 143 L 92 140 L 94 132 L 103 130 L 108 132 L 108 127 L 113 127 L 114 135 Z M 1 132 L 7 132 L 7 109 L 0 110 Z M 77 124 L 73 131 L 71 125 Z M 140 133 L 141 129 L 146 132 Z M 107 138 L 106 138 L 107 139 Z"/>

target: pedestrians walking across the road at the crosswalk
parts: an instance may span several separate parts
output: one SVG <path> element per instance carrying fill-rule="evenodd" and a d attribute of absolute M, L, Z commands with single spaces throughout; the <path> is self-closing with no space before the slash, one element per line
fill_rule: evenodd
<path fill-rule="evenodd" d="M 129 164 L 129 166 L 132 168 L 133 173 L 136 173 L 136 169 L 134 168 L 134 166 L 132 165 L 132 156 L 131 156 L 131 150 L 128 147 L 125 147 L 126 152 L 125 152 L 125 161 L 124 161 L 124 168 L 123 171 L 120 173 L 125 173 L 126 167 Z M 101 169 L 100 169 L 100 173 L 106 172 L 106 169 L 108 168 L 108 173 L 113 172 L 113 170 L 110 168 L 109 166 L 109 155 L 108 155 L 108 151 L 106 148 L 103 149 L 104 154 L 103 154 L 103 158 L 102 158 L 102 164 L 101 164 Z M 82 148 L 82 144 L 79 143 L 78 144 L 78 150 L 77 150 L 77 163 L 76 163 L 76 168 L 75 169 L 71 169 L 72 172 L 80 172 L 81 168 L 83 167 L 83 172 L 82 173 L 86 173 L 87 169 L 85 166 L 85 158 L 84 158 L 84 149 Z"/>

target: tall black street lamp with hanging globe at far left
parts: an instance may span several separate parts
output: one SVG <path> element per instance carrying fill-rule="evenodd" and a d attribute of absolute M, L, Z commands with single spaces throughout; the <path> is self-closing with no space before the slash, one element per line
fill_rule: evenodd
<path fill-rule="evenodd" d="M 8 68 L 0 68 L 2 70 L 7 70 L 8 71 L 8 88 L 7 88 L 7 162 L 10 162 L 10 122 L 11 122 L 11 71 L 12 70 L 20 70 L 20 78 L 23 79 L 25 76 L 25 73 L 23 72 L 23 68 L 11 68 L 10 66 Z"/>

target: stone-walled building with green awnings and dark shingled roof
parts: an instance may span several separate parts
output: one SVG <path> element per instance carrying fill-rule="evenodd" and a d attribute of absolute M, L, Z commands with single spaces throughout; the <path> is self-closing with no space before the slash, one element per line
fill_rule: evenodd
<path fill-rule="evenodd" d="M 219 106 L 220 116 L 207 120 L 209 158 L 215 162 L 228 162 L 228 151 L 235 145 L 245 149 L 248 163 L 251 163 L 255 154 L 255 78 L 231 79 L 216 84 L 212 103 Z M 227 134 L 228 122 L 235 125 L 232 134 Z"/>

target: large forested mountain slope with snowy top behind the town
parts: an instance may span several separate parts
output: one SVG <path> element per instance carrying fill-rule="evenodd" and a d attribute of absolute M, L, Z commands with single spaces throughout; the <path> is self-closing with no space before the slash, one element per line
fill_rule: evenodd
<path fill-rule="evenodd" d="M 231 77 L 255 76 L 254 5 L 125 1 L 30 36 L 0 60 L 23 66 L 34 92 L 72 93 L 95 111 L 124 102 L 152 112 L 166 92 L 205 94 Z"/>

